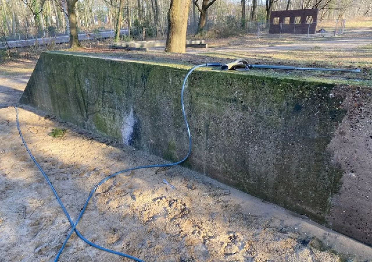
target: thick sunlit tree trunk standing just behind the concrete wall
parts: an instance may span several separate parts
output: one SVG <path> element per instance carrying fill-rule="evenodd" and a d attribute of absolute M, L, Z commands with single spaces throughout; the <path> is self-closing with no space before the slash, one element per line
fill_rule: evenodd
<path fill-rule="evenodd" d="M 168 35 L 166 52 L 186 52 L 187 18 L 189 17 L 190 0 L 171 0 L 168 11 Z"/>

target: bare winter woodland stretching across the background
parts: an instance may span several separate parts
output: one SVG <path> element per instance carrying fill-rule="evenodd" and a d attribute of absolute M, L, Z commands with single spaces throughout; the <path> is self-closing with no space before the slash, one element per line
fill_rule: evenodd
<path fill-rule="evenodd" d="M 129 29 L 126 38 L 164 38 L 171 0 L 79 0 L 78 32 Z M 68 35 L 66 0 L 0 0 L 0 34 L 7 40 Z M 372 0 L 190 0 L 187 33 L 232 34 L 262 22 L 275 10 L 319 9 L 318 21 L 372 16 Z M 120 12 L 119 12 L 120 11 Z M 228 32 L 225 32 L 228 31 Z"/>

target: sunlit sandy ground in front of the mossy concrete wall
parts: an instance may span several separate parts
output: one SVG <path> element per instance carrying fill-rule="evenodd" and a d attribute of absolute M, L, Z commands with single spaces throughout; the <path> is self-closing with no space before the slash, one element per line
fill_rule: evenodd
<path fill-rule="evenodd" d="M 70 230 L 17 131 L 12 105 L 27 78 L 0 77 L 0 261 L 51 261 Z M 23 135 L 73 219 L 103 177 L 164 162 L 26 109 L 19 116 Z M 55 127 L 67 133 L 52 138 Z M 370 247 L 182 167 L 109 180 L 78 229 L 97 244 L 145 261 L 372 261 Z M 73 234 L 60 261 L 129 260 Z"/>

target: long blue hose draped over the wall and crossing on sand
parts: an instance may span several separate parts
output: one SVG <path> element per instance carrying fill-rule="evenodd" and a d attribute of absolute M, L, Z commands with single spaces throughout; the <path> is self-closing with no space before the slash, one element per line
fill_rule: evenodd
<path fill-rule="evenodd" d="M 132 168 L 129 168 L 129 169 L 126 169 L 126 170 L 122 170 L 122 171 L 119 171 L 119 172 L 116 172 L 108 177 L 106 177 L 105 179 L 101 180 L 95 187 L 93 187 L 93 189 L 90 191 L 89 193 L 89 196 L 88 196 L 88 199 L 86 200 L 84 206 L 83 206 L 83 209 L 81 210 L 76 222 L 74 223 L 74 221 L 71 219 L 70 215 L 68 214 L 65 206 L 63 205 L 60 197 L 58 196 L 57 194 L 57 191 L 54 189 L 51 181 L 49 180 L 47 174 L 45 174 L 44 170 L 41 168 L 41 166 L 38 164 L 38 162 L 36 161 L 35 157 L 33 157 L 31 151 L 29 150 L 27 144 L 26 144 L 26 141 L 25 139 L 23 138 L 23 135 L 22 135 L 22 132 L 20 130 L 20 126 L 19 126 L 19 120 L 18 120 L 18 108 L 16 108 L 16 112 L 17 112 L 17 128 L 18 128 L 18 132 L 19 132 L 19 135 L 22 139 L 22 142 L 23 144 L 25 145 L 26 147 L 26 150 L 27 152 L 29 153 L 31 159 L 33 160 L 33 162 L 35 162 L 35 165 L 39 168 L 39 170 L 41 171 L 41 173 L 43 174 L 44 178 L 47 180 L 49 186 L 51 187 L 55 197 L 57 198 L 57 201 L 58 203 L 60 203 L 61 205 L 61 208 L 63 210 L 63 212 L 65 213 L 68 221 L 70 221 L 70 224 L 72 226 L 71 230 L 70 230 L 70 233 L 68 233 L 64 243 L 62 244 L 62 247 L 60 249 L 60 251 L 58 252 L 56 258 L 55 258 L 55 262 L 58 261 L 58 259 L 60 258 L 61 256 L 61 253 L 63 251 L 63 249 L 65 248 L 66 244 L 67 244 L 67 241 L 68 239 L 70 239 L 71 237 L 71 234 L 75 231 L 76 234 L 78 235 L 78 237 L 80 237 L 81 240 L 83 240 L 84 242 L 86 242 L 87 244 L 89 244 L 90 246 L 93 246 L 93 247 L 96 247 L 97 249 L 100 249 L 100 250 L 103 250 L 103 251 L 106 251 L 106 252 L 109 252 L 109 253 L 112 253 L 112 254 L 116 254 L 116 255 L 119 255 L 119 256 L 123 256 L 125 258 L 129 258 L 129 259 L 132 259 L 134 261 L 138 261 L 138 262 L 144 262 L 143 260 L 141 259 L 138 259 L 138 258 L 135 258 L 133 256 L 129 256 L 125 253 L 121 253 L 121 252 L 118 252 L 118 251 L 115 251 L 115 250 L 110 250 L 110 249 L 107 249 L 105 247 L 102 247 L 102 246 L 98 246 L 97 244 L 94 244 L 93 242 L 90 242 L 89 240 L 87 240 L 84 236 L 81 235 L 81 233 L 77 230 L 76 226 L 78 224 L 78 222 L 80 221 L 81 217 L 83 216 L 84 212 L 85 212 L 85 209 L 87 208 L 87 205 L 90 201 L 90 199 L 92 198 L 92 196 L 94 195 L 94 193 L 96 192 L 97 188 L 102 185 L 103 183 L 105 183 L 107 180 L 109 180 L 110 178 L 112 177 L 115 177 L 116 175 L 118 174 L 122 174 L 122 173 L 125 173 L 127 171 L 131 171 L 131 170 L 138 170 L 138 169 L 142 169 L 142 168 L 151 168 L 151 167 L 171 167 L 173 165 L 178 165 L 178 164 L 181 164 L 183 161 L 185 161 L 191 154 L 191 145 L 192 145 L 192 140 L 191 140 L 191 133 L 190 133 L 190 128 L 189 128 L 189 123 L 187 122 L 187 118 L 186 118 L 186 113 L 185 113 L 185 106 L 184 106 L 184 102 L 183 102 L 183 93 L 185 91 L 185 84 L 186 84 L 186 81 L 187 81 L 187 78 L 189 77 L 189 75 L 197 68 L 199 67 L 205 67 L 205 66 L 221 66 L 220 63 L 207 63 L 207 64 L 201 64 L 199 66 L 195 66 L 193 67 L 189 73 L 187 73 L 186 77 L 185 77 L 185 80 L 183 81 L 183 85 L 182 85 L 182 91 L 181 91 L 181 105 L 182 105 L 182 114 L 183 114 L 183 119 L 185 120 L 185 124 L 186 124 L 186 128 L 187 128 L 187 136 L 189 137 L 189 152 L 187 153 L 186 157 L 183 158 L 182 160 L 178 161 L 178 162 L 175 162 L 175 163 L 171 163 L 171 164 L 159 164 L 159 165 L 143 165 L 143 166 L 139 166 L 139 167 L 132 167 Z"/>

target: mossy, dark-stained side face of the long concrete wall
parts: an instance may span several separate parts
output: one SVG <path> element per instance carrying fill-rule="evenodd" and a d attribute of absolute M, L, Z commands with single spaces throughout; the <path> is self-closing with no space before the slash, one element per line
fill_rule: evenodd
<path fill-rule="evenodd" d="M 43 53 L 20 102 L 176 161 L 188 146 L 180 108 L 186 73 L 167 65 Z M 199 70 L 185 94 L 193 149 L 184 165 L 372 244 L 371 216 L 361 210 L 371 204 L 347 202 L 343 181 L 350 171 L 335 155 L 350 92 L 325 83 Z M 363 219 L 340 220 L 355 206 Z"/>

